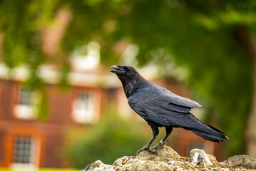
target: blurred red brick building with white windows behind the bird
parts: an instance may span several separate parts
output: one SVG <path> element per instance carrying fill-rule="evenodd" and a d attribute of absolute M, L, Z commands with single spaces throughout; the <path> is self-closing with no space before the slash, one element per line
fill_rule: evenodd
<path fill-rule="evenodd" d="M 4 66 L 0 66 L 0 70 L 4 71 Z M 0 74 L 0 167 L 69 167 L 62 152 L 66 128 L 96 123 L 109 99 L 116 100 L 119 109 L 128 109 L 123 115 L 135 115 L 128 107 L 118 78 L 108 70 L 73 72 L 71 88 L 62 91 L 51 78 L 54 71 L 46 67 L 42 73 L 51 71 L 52 74 L 41 74 L 48 94 L 48 118 L 41 122 L 36 120 L 34 108 L 40 95 L 21 86 L 25 76 L 22 68 L 19 71 L 12 81 L 6 80 L 4 72 Z M 188 90 L 174 79 L 150 79 L 173 93 L 190 97 Z M 115 97 L 110 98 L 112 94 Z M 193 147 L 204 148 L 213 155 L 220 154 L 215 143 L 190 131 L 175 129 L 171 136 L 175 139 L 171 146 L 182 156 L 188 155 Z"/>

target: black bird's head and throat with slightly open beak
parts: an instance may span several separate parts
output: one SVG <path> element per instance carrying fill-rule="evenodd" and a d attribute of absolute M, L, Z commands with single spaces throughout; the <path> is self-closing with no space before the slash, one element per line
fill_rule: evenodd
<path fill-rule="evenodd" d="M 145 79 L 140 76 L 140 73 L 135 70 L 132 66 L 111 66 L 111 72 L 116 73 L 118 78 L 123 84 L 123 89 L 126 92 L 126 97 L 133 93 L 134 88 L 137 88 L 140 83 Z"/>

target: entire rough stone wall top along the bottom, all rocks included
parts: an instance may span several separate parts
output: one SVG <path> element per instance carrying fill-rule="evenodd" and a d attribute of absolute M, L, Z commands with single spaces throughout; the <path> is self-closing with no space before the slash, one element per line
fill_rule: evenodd
<path fill-rule="evenodd" d="M 113 165 L 104 165 L 101 161 L 93 162 L 91 165 L 88 165 L 88 171 L 98 171 L 98 170 L 156 170 L 156 171 L 192 171 L 192 170 L 204 170 L 204 171 L 229 171 L 229 170 L 250 170 L 254 169 L 256 162 L 255 159 L 246 157 L 238 157 L 237 160 L 240 160 L 240 164 L 233 165 L 231 162 L 234 160 L 228 159 L 225 162 L 217 162 L 216 158 L 213 155 L 207 155 L 203 150 L 192 150 L 190 154 L 195 156 L 195 153 L 198 153 L 203 159 L 207 159 L 211 165 L 196 165 L 190 157 L 180 157 L 177 152 L 168 146 L 156 147 L 154 148 L 157 155 L 153 155 L 148 151 L 142 151 L 137 156 L 124 156 L 118 158 Z M 235 156 L 234 156 L 235 157 Z M 246 159 L 245 159 L 246 158 Z M 102 164 L 101 164 L 102 163 Z M 101 166 L 103 165 L 103 166 Z M 87 171 L 87 170 L 84 171 Z M 256 170 L 255 170 L 256 171 Z"/>

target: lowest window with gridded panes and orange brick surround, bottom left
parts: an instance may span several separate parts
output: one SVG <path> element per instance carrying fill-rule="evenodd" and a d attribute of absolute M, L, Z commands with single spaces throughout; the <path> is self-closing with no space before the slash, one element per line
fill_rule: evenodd
<path fill-rule="evenodd" d="M 16 136 L 13 143 L 13 163 L 34 164 L 35 140 L 29 136 Z"/>

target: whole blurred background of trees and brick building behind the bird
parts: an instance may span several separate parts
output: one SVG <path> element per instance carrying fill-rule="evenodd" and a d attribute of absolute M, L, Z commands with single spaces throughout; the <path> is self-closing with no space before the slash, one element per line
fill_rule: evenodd
<path fill-rule="evenodd" d="M 192 113 L 230 138 L 174 129 L 168 145 L 181 156 L 256 157 L 255 10 L 253 0 L 0 0 L 0 170 L 135 155 L 152 133 L 115 64 L 198 101 Z"/>

